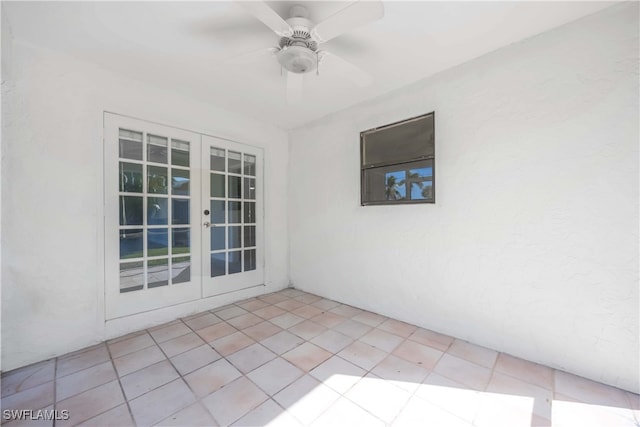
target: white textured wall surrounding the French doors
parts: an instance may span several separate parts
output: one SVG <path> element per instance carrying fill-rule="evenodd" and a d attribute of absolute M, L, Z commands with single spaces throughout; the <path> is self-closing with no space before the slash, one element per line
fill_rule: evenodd
<path fill-rule="evenodd" d="M 3 65 L 4 54 L 3 49 Z M 105 110 L 265 147 L 267 286 L 256 292 L 288 284 L 284 131 L 19 42 L 12 55 L 14 78 L 2 86 L 5 370 L 233 298 L 105 325 Z M 246 296 L 243 292 L 235 298 Z"/>

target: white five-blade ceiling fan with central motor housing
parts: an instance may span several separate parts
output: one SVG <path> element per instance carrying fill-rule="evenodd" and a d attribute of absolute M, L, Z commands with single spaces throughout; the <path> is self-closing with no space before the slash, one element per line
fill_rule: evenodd
<path fill-rule="evenodd" d="M 384 6 L 381 1 L 355 1 L 322 22 L 309 20 L 307 8 L 296 4 L 289 9 L 289 18 L 283 19 L 264 1 L 240 1 L 247 12 L 271 28 L 280 40 L 278 46 L 249 52 L 227 60 L 227 63 L 245 64 L 264 56 L 275 56 L 287 73 L 287 101 L 300 102 L 302 98 L 302 76 L 319 71 L 319 65 L 330 59 L 329 65 L 351 79 L 358 86 L 371 84 L 373 78 L 345 59 L 320 50 L 319 45 L 338 37 L 356 27 L 382 18 Z"/>

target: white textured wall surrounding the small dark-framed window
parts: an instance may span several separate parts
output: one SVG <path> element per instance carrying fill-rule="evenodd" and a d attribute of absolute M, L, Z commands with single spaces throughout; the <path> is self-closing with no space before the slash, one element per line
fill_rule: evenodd
<path fill-rule="evenodd" d="M 437 203 L 359 206 L 359 132 L 431 111 Z M 293 284 L 638 392 L 638 115 L 633 2 L 296 129 Z"/>

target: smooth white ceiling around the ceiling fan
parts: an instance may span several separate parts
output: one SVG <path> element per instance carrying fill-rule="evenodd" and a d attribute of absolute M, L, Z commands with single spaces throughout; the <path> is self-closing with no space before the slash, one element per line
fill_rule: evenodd
<path fill-rule="evenodd" d="M 292 4 L 319 22 L 350 2 Z M 614 2 L 385 2 L 385 16 L 323 45 L 368 71 L 353 85 L 321 64 L 304 76 L 304 102 L 286 102 L 275 58 L 251 65 L 223 59 L 278 42 L 234 2 L 2 2 L 16 39 L 60 50 L 162 88 L 291 129 L 400 88 L 500 47 L 594 13 Z"/>

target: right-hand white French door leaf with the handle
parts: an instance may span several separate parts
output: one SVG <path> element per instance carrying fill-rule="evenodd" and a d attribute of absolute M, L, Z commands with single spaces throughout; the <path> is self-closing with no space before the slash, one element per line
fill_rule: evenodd
<path fill-rule="evenodd" d="M 202 136 L 203 294 L 263 283 L 262 150 Z"/>

